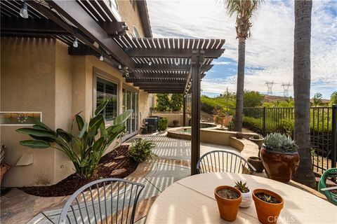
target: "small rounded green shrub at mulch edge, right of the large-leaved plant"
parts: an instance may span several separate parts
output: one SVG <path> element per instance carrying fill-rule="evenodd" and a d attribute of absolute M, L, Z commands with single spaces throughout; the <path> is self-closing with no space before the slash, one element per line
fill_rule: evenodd
<path fill-rule="evenodd" d="M 138 139 L 133 141 L 128 149 L 128 155 L 136 162 L 144 162 L 145 160 L 152 159 L 156 156 L 152 149 L 156 147 L 153 141 L 146 139 Z"/>

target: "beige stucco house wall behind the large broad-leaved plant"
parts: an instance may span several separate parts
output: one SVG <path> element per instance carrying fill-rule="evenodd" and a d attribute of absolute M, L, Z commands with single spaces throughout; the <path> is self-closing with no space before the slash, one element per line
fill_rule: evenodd
<path fill-rule="evenodd" d="M 41 111 L 44 123 L 52 129 L 70 131 L 75 113 L 85 120 L 93 116 L 93 68 L 119 80 L 119 108 L 122 109 L 121 73 L 93 56 L 70 56 L 67 45 L 52 39 L 1 38 L 1 111 Z M 149 114 L 148 94 L 139 93 L 138 123 Z M 140 127 L 140 125 L 139 125 Z M 11 165 L 4 176 L 4 186 L 51 185 L 72 174 L 70 160 L 60 151 L 20 146 L 29 139 L 15 132 L 19 126 L 1 126 L 1 144 L 7 146 L 5 162 Z M 75 130 L 76 131 L 76 130 Z M 114 144 L 112 144 L 114 146 Z M 107 152 L 111 151 L 110 147 Z M 32 153 L 32 165 L 15 164 L 25 153 Z"/>

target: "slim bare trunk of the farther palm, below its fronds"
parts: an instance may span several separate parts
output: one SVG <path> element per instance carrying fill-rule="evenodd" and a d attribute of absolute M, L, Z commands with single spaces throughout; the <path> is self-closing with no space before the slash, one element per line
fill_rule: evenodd
<path fill-rule="evenodd" d="M 239 59 L 237 62 L 237 103 L 235 104 L 234 131 L 242 131 L 242 113 L 244 111 L 244 58 L 246 39 L 239 38 Z"/>

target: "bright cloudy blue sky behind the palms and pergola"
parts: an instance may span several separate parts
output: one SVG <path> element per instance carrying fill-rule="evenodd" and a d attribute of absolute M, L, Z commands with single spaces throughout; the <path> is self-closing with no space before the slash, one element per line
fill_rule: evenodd
<path fill-rule="evenodd" d="M 235 20 L 216 0 L 147 0 L 154 37 L 224 38 L 226 49 L 213 61 L 213 69 L 201 82 L 203 94 L 236 90 L 237 39 Z M 329 98 L 337 90 L 337 1 L 313 1 L 311 39 L 311 95 Z M 267 92 L 265 81 L 282 95 L 282 83 L 293 80 L 293 1 L 265 1 L 253 17 L 246 41 L 246 90 Z M 293 94 L 293 86 L 289 89 Z"/>

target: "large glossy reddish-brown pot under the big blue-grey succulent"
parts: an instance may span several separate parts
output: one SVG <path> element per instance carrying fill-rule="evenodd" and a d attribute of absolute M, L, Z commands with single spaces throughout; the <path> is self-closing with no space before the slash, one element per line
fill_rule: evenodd
<path fill-rule="evenodd" d="M 268 151 L 262 147 L 260 155 L 265 173 L 275 181 L 289 182 L 300 164 L 298 151 Z"/>

